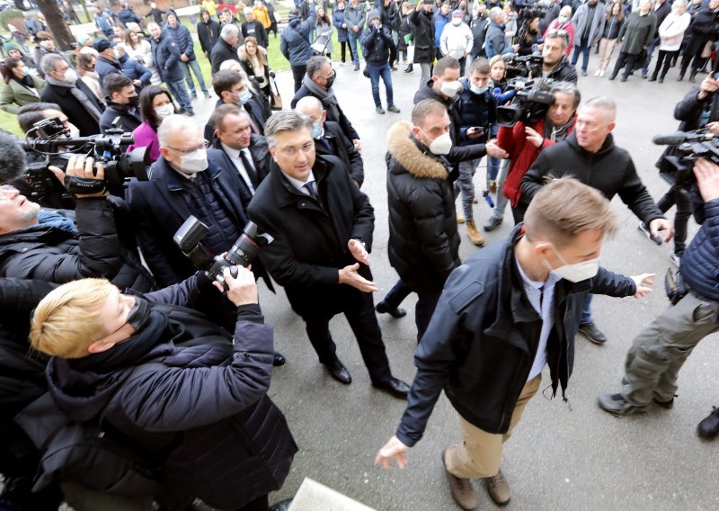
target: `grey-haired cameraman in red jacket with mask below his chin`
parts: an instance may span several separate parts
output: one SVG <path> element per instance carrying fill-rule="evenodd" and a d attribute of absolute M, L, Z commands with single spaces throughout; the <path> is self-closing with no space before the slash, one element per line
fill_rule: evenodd
<path fill-rule="evenodd" d="M 502 126 L 497 136 L 497 145 L 510 155 L 510 167 L 502 193 L 510 200 L 515 223 L 524 220 L 524 212 L 529 205 L 529 200 L 522 197 L 522 177 L 541 151 L 566 139 L 574 130 L 575 112 L 581 101 L 579 89 L 569 82 L 557 82 L 550 92 L 555 95 L 555 103 L 549 107 L 544 119 L 531 126 L 522 121 L 511 128 Z M 488 223 L 491 220 L 495 217 L 492 216 Z M 502 220 L 497 218 L 495 221 L 499 223 Z"/>

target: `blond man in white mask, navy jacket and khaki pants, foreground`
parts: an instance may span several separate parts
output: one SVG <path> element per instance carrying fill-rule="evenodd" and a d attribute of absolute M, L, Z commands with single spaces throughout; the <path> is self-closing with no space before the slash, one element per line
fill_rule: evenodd
<path fill-rule="evenodd" d="M 539 389 L 549 365 L 552 393 L 572 374 L 574 336 L 588 291 L 644 296 L 651 274 L 625 277 L 599 266 L 617 219 L 601 193 L 572 178 L 555 180 L 529 205 L 524 224 L 451 273 L 414 363 L 404 416 L 377 453 L 400 468 L 422 438 L 444 389 L 460 417 L 462 441 L 442 453 L 452 497 L 475 509 L 471 479 L 486 478 L 498 505 L 510 500 L 500 470 L 503 444 Z"/>

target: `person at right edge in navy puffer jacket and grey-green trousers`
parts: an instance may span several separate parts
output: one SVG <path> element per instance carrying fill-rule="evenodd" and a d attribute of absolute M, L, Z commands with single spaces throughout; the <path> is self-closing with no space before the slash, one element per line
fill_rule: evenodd
<path fill-rule="evenodd" d="M 719 330 L 719 166 L 698 160 L 697 184 L 705 201 L 706 220 L 682 258 L 679 273 L 688 293 L 670 305 L 635 337 L 626 354 L 622 391 L 599 396 L 599 408 L 617 416 L 646 410 L 652 401 L 671 408 L 677 377 L 689 354 L 706 336 Z M 715 416 L 715 417 L 712 417 Z M 716 410 L 699 427 L 706 438 L 719 433 Z M 711 420 L 714 418 L 714 420 Z M 712 427 L 710 427 L 712 426 Z"/>

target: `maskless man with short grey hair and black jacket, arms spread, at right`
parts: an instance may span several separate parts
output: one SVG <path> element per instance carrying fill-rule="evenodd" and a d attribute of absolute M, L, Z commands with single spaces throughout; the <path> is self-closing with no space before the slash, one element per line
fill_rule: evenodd
<path fill-rule="evenodd" d="M 652 236 L 659 237 L 663 230 L 664 241 L 673 234 L 671 223 L 646 191 L 629 153 L 614 145 L 611 131 L 615 128 L 617 105 L 606 97 L 590 99 L 581 107 L 574 132 L 545 148 L 522 178 L 522 196 L 532 201 L 549 176 L 573 175 L 603 193 L 608 200 L 615 195 L 635 216 L 649 226 Z M 530 202 L 531 203 L 531 202 Z M 581 315 L 580 331 L 596 344 L 604 344 L 607 337 L 594 324 L 591 317 L 591 295 L 587 295 Z"/>

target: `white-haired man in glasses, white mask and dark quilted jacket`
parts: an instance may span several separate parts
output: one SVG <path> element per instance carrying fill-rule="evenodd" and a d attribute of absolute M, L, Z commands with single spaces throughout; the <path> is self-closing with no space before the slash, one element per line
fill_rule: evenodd
<path fill-rule="evenodd" d="M 209 227 L 201 243 L 210 254 L 225 252 L 240 237 L 247 217 L 240 197 L 243 186 L 232 169 L 217 165 L 217 149 L 207 149 L 200 129 L 183 115 L 164 119 L 157 130 L 162 156 L 149 181 L 132 180 L 130 211 L 137 218 L 138 246 L 160 286 L 182 282 L 197 269 L 173 242 L 175 231 L 190 215 Z M 205 303 L 204 312 L 228 323 L 224 300 Z M 212 301 L 212 300 L 210 300 Z M 284 363 L 278 354 L 275 363 Z"/>

